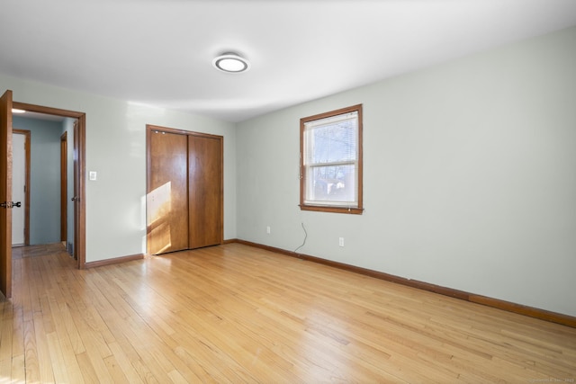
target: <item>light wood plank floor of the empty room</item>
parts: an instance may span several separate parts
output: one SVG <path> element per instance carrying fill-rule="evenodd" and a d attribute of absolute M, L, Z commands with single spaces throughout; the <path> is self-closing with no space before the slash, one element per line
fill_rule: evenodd
<path fill-rule="evenodd" d="M 5 382 L 576 382 L 576 329 L 229 244 L 14 250 Z"/>

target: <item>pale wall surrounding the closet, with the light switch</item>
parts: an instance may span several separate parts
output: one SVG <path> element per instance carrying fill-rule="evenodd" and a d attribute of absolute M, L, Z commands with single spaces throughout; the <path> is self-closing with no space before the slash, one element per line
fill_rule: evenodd
<path fill-rule="evenodd" d="M 86 262 L 146 251 L 146 124 L 224 136 L 224 238 L 236 237 L 236 131 L 229 122 L 0 76 L 14 101 L 86 113 Z M 2 91 L 4 93 L 4 91 Z"/>

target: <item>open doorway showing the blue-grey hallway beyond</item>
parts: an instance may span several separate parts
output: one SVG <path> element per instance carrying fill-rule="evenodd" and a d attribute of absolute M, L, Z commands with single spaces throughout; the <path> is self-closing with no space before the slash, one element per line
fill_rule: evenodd
<path fill-rule="evenodd" d="M 67 170 L 60 171 L 58 152 L 62 131 L 71 131 L 72 123 L 72 119 L 32 112 L 13 116 L 12 246 L 67 244 L 60 228 L 72 218 L 62 215 L 60 208 L 71 202 L 59 201 L 67 192 L 59 179 L 66 180 Z"/>

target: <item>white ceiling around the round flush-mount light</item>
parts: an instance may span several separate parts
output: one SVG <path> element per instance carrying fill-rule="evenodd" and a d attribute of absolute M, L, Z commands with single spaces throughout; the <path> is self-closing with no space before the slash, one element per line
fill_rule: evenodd
<path fill-rule="evenodd" d="M 575 0 L 4 0 L 0 73 L 244 121 L 572 25 Z"/>

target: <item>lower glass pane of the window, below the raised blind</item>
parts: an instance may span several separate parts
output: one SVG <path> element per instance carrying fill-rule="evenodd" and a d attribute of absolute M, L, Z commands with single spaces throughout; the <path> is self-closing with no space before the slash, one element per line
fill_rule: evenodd
<path fill-rule="evenodd" d="M 308 169 L 309 201 L 356 206 L 356 165 L 313 166 Z"/>

